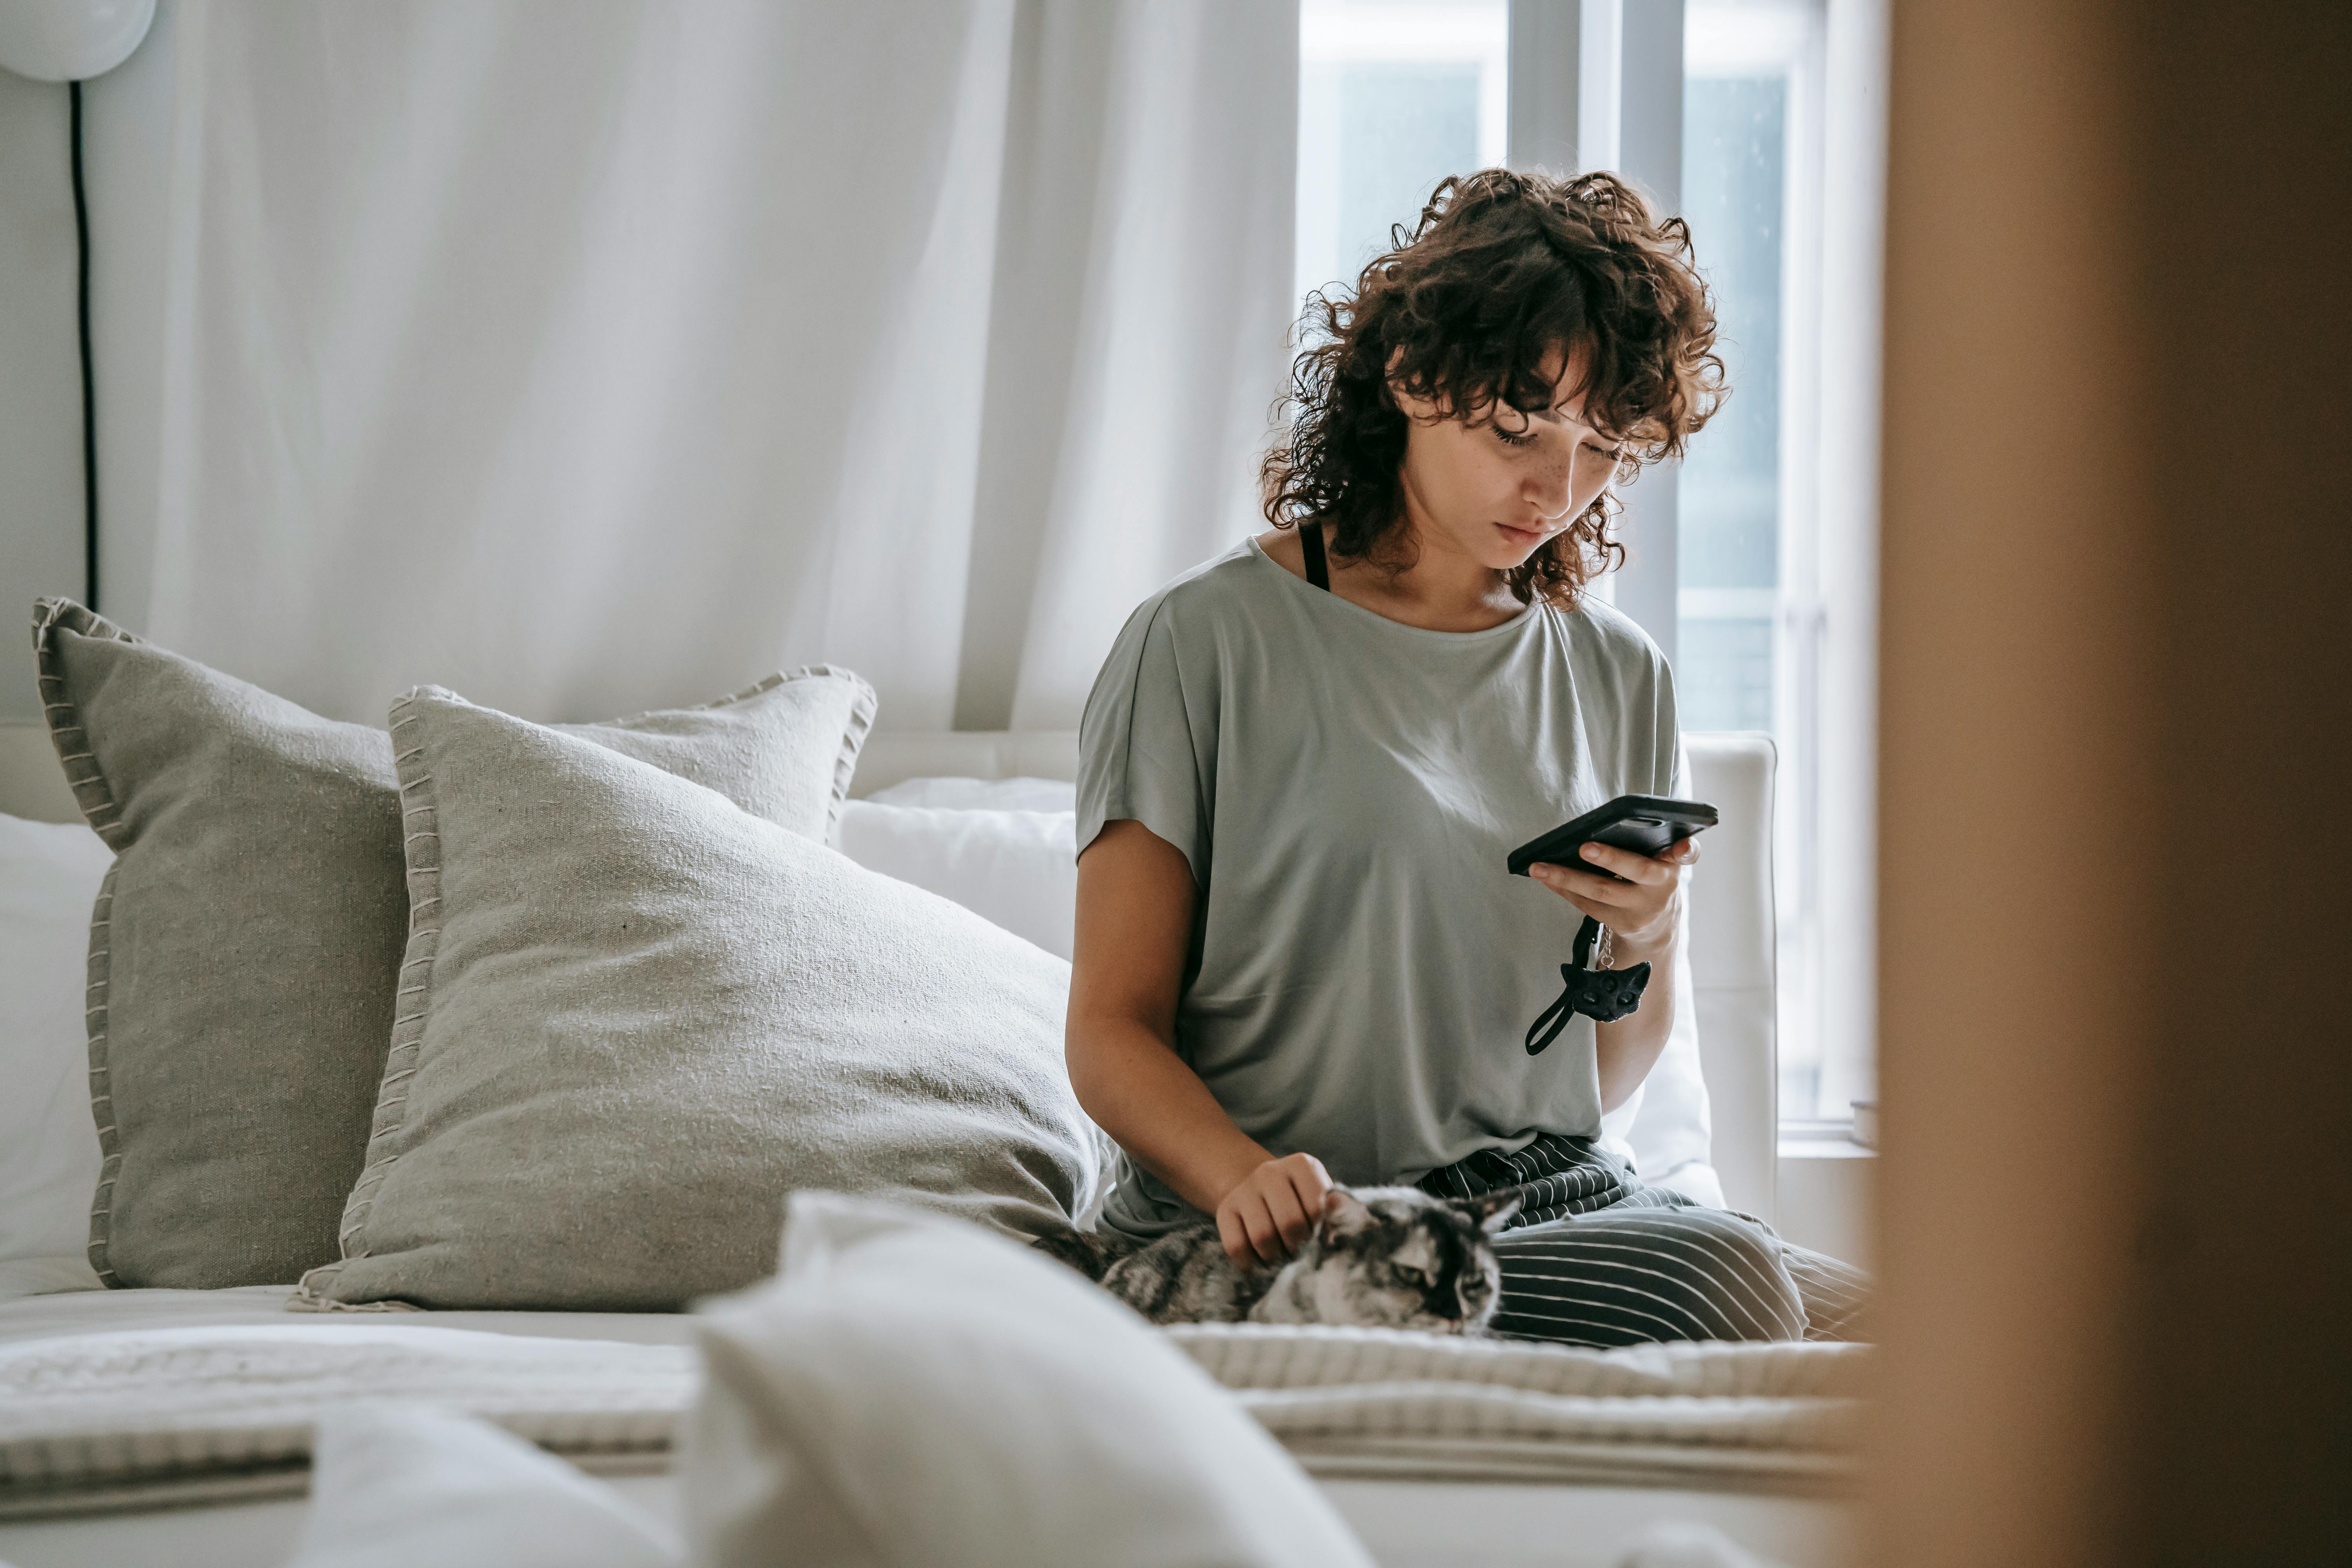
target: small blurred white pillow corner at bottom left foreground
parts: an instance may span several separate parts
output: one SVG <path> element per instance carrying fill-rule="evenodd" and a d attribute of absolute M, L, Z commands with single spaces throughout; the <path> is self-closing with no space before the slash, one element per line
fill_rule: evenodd
<path fill-rule="evenodd" d="M 318 1420 L 310 1516 L 287 1568 L 675 1568 L 677 1537 L 489 1422 L 423 1403 Z"/>

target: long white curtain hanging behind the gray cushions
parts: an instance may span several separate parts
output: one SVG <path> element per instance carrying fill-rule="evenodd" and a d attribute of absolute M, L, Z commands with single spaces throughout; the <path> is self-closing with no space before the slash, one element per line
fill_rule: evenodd
<path fill-rule="evenodd" d="M 840 663 L 1061 729 L 1251 527 L 1296 7 L 167 5 L 92 103 L 106 609 L 320 712 Z"/>

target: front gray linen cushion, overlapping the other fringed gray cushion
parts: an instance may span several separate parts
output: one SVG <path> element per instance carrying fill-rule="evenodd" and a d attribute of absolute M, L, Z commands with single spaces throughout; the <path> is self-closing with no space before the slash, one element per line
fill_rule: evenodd
<path fill-rule="evenodd" d="M 1061 959 L 447 691 L 393 736 L 405 1004 L 303 1302 L 673 1309 L 771 1272 L 795 1187 L 1023 1237 L 1091 1194 Z"/>

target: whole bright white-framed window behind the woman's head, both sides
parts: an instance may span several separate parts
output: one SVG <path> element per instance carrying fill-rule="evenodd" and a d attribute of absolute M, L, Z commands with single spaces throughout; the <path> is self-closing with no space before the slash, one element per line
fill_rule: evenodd
<path fill-rule="evenodd" d="M 1388 247 L 1388 226 L 1411 223 L 1444 174 L 1505 162 L 1505 136 L 1517 134 L 1512 78 L 1573 92 L 1566 122 L 1606 165 L 1661 167 L 1663 158 L 1672 176 L 1679 158 L 1679 205 L 1717 296 L 1733 397 L 1691 447 L 1672 515 L 1637 524 L 1672 529 L 1672 592 L 1661 583 L 1646 595 L 1653 609 L 1625 595 L 1618 604 L 1672 621 L 1651 632 L 1675 651 L 1684 729 L 1773 736 L 1780 1114 L 1844 1121 L 1872 1093 L 1870 463 L 1882 186 L 1872 136 L 1884 134 L 1875 96 L 1884 35 L 1849 16 L 1832 40 L 1828 0 L 1684 0 L 1675 155 L 1661 146 L 1677 139 L 1672 115 L 1642 118 L 1661 99 L 1637 80 L 1632 9 L 1623 0 L 1522 2 L 1524 31 L 1503 0 L 1305 0 L 1298 294 L 1350 282 Z M 1672 21 L 1658 9 L 1672 2 L 1639 0 L 1646 38 L 1661 35 L 1661 16 Z M 1557 71 L 1550 59 L 1515 61 L 1515 33 L 1573 38 L 1578 56 Z M 1832 54 L 1842 61 L 1835 78 Z M 1656 61 L 1642 71 L 1672 82 L 1672 54 L 1642 59 Z M 1637 134 L 1644 141 L 1632 146 Z M 1823 418 L 1825 404 L 1839 409 L 1837 421 Z"/>

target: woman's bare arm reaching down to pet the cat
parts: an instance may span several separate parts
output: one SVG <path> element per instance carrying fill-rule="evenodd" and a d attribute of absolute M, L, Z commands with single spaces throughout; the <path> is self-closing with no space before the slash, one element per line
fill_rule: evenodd
<path fill-rule="evenodd" d="M 1183 851 L 1143 823 L 1108 823 L 1077 858 L 1070 1088 L 1136 1164 L 1216 1215 L 1235 1260 L 1277 1262 L 1331 1182 L 1312 1154 L 1258 1147 L 1176 1056 L 1192 898 Z"/>

